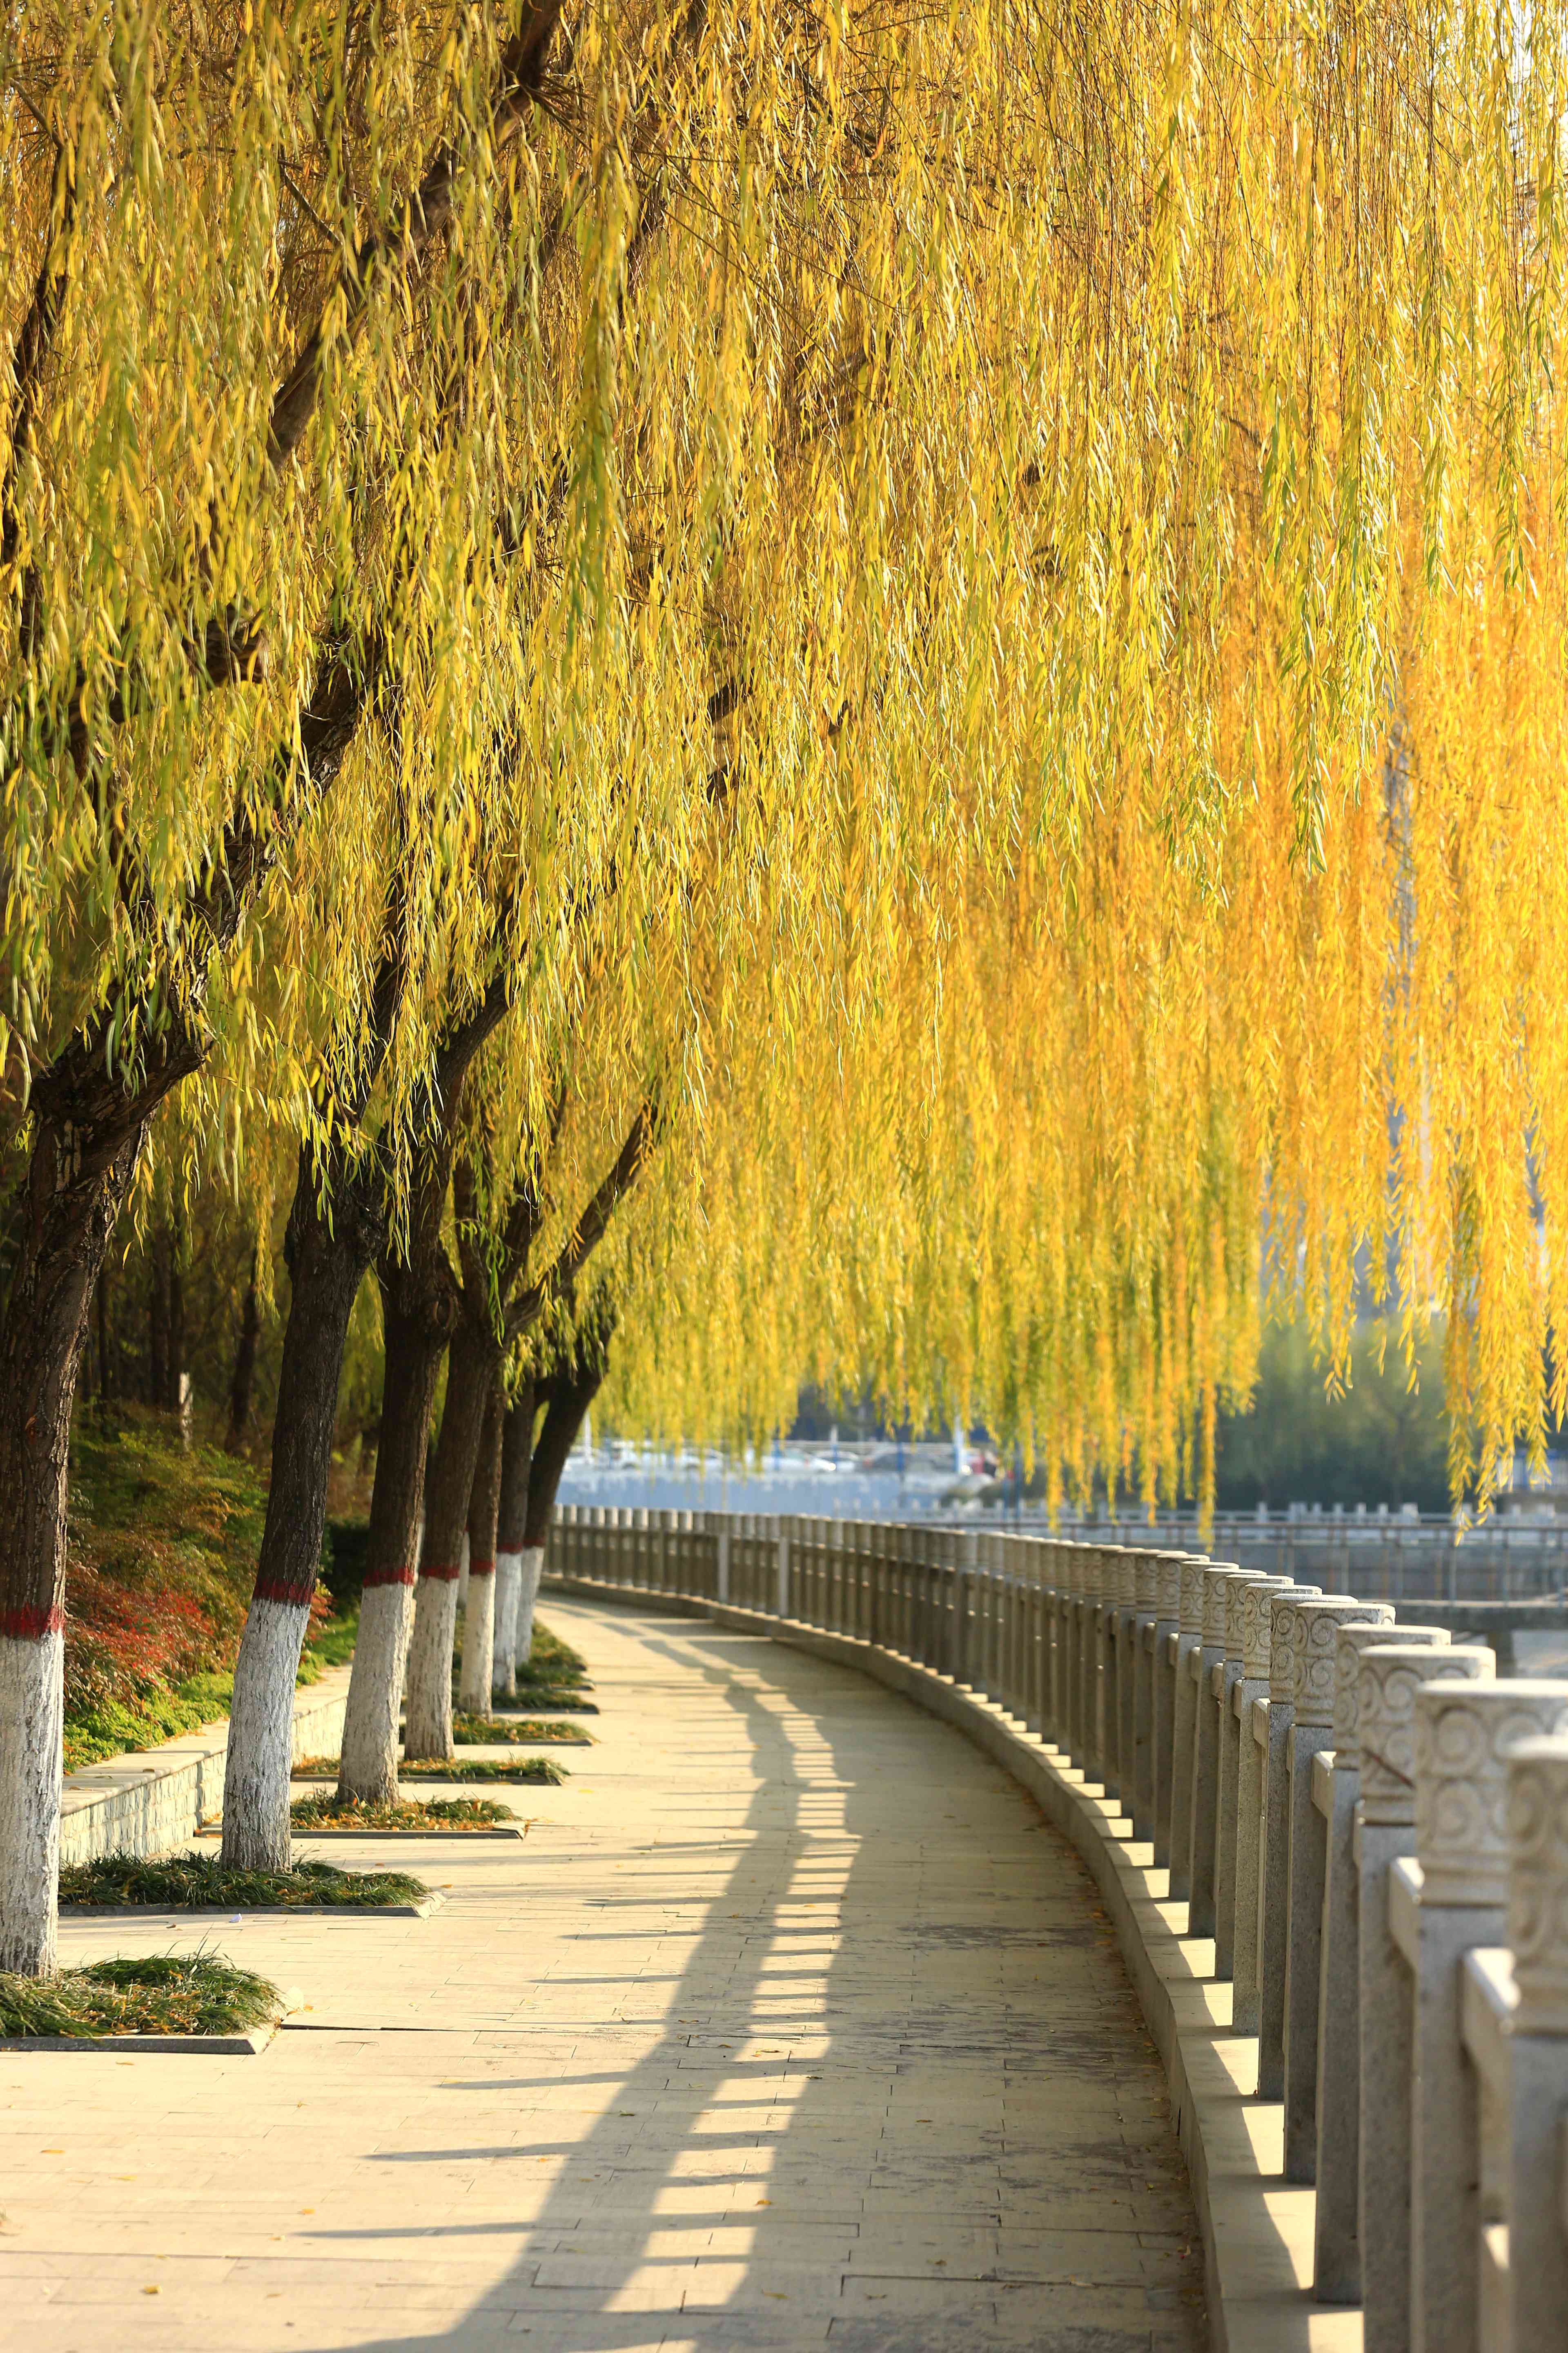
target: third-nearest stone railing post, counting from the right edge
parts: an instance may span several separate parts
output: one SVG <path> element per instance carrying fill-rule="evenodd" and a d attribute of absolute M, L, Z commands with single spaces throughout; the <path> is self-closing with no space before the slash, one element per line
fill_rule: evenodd
<path fill-rule="evenodd" d="M 1361 1652 L 1356 1755 L 1361 1802 L 1361 2153 L 1356 2238 L 1366 2353 L 1410 2348 L 1410 2101 L 1415 2000 L 1410 1965 L 1389 1932 L 1389 1864 L 1415 1854 L 1415 1694 L 1434 1673 L 1490 1682 L 1486 1642 L 1406 1647 L 1401 1628 Z"/>

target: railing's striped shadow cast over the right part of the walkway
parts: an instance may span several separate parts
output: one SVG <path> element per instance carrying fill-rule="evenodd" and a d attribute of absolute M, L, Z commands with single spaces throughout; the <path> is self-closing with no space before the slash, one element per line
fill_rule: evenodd
<path fill-rule="evenodd" d="M 317 2235 L 388 2252 L 418 2238 L 437 2259 L 442 2240 L 527 2233 L 461 2320 L 367 2337 L 367 2353 L 512 2344 L 524 2329 L 552 2353 L 792 2353 L 827 2339 L 971 2353 L 1077 2332 L 1110 2353 L 1147 2346 L 1152 2329 L 1201 2344 L 1159 2061 L 1077 1859 L 1056 1849 L 1067 1878 L 1046 1901 L 1030 1864 L 1056 1840 L 1030 1800 L 961 1734 L 889 1708 L 858 1675 L 708 1626 L 639 1621 L 637 1635 L 651 1664 L 701 1675 L 738 1720 L 733 1769 L 757 1786 L 738 1817 L 724 1809 L 733 1854 L 679 1969 L 654 1979 L 663 2021 L 625 2068 L 527 2066 L 524 2047 L 517 2075 L 475 2078 L 487 2099 L 515 2089 L 524 2104 L 602 2087 L 585 2132 L 383 2160 L 548 2160 L 543 2200 L 520 2184 L 510 2219 Z M 898 1781 L 912 1734 L 940 1746 L 945 1784 Z M 1013 1805 L 1001 1842 L 999 1788 Z M 691 1904 L 710 1859 L 710 1842 L 677 1835 L 646 1868 L 672 1864 Z M 922 1871 L 964 1880 L 964 1918 L 922 1894 Z M 646 1941 L 616 1922 L 663 1901 L 607 1897 L 607 1925 L 576 1941 Z M 891 1944 L 889 1920 L 907 1927 Z M 574 1981 L 625 1979 L 607 1967 Z M 529 2033 L 517 2028 L 524 2045 Z"/>

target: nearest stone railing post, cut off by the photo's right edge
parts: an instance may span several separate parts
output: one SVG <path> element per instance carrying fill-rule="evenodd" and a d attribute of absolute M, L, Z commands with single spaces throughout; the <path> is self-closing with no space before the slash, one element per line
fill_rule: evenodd
<path fill-rule="evenodd" d="M 1568 1739 L 1516 1741 L 1507 1772 L 1507 1927 L 1519 1995 L 1507 2118 L 1507 2353 L 1561 2353 L 1568 2334 Z"/>

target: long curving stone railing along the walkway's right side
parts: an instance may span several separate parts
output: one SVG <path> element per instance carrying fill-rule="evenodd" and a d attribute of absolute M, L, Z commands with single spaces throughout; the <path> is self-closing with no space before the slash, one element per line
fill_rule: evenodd
<path fill-rule="evenodd" d="M 567 1506 L 545 1574 L 867 1642 L 1114 1800 L 1213 1941 L 1366 2353 L 1568 2344 L 1568 1680 L 1199 1555 Z M 1410 1607 L 1420 1619 L 1420 1605 Z"/>

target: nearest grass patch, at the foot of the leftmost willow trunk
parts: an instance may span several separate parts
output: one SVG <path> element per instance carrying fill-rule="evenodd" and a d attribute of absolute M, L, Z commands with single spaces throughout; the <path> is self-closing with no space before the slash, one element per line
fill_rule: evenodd
<path fill-rule="evenodd" d="M 235 2035 L 277 2017 L 277 1986 L 212 1953 L 92 1960 L 47 1979 L 0 1974 L 0 2035 Z"/>

